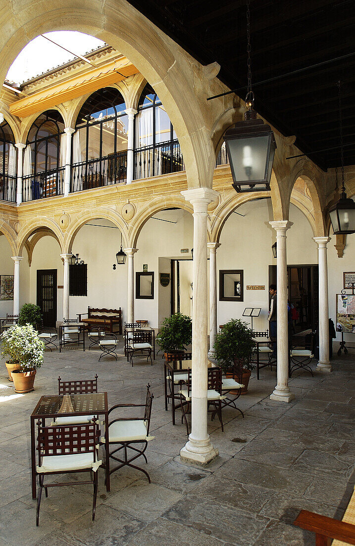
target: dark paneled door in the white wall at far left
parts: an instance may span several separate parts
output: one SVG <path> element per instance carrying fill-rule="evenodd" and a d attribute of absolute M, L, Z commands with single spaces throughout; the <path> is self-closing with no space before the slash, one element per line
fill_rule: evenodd
<path fill-rule="evenodd" d="M 41 308 L 43 325 L 56 327 L 57 321 L 57 270 L 37 270 L 37 305 Z"/>

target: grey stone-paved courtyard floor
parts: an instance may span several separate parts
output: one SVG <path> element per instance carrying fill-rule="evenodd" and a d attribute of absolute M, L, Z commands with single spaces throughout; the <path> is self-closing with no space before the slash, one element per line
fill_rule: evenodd
<path fill-rule="evenodd" d="M 301 546 L 314 535 L 292 525 L 301 509 L 341 519 L 354 486 L 355 360 L 335 357 L 329 375 L 302 372 L 290 379 L 296 400 L 271 402 L 275 371 L 255 374 L 238 400 L 243 419 L 224 410 L 224 432 L 209 417 L 220 456 L 204 469 L 183 465 L 179 451 L 186 428 L 164 410 L 163 361 L 119 358 L 73 346 L 45 353 L 32 393 L 11 397 L 14 388 L 0 361 L 0 546 L 27 544 L 130 546 Z M 314 366 L 315 367 L 315 366 Z M 149 382 L 154 393 L 146 455 L 152 483 L 141 472 L 112 474 L 111 492 L 99 470 L 96 518 L 91 521 L 90 485 L 53 488 L 42 497 L 40 524 L 30 489 L 29 416 L 39 397 L 57 394 L 57 378 L 99 376 L 109 406 L 142 403 Z M 143 463 L 144 464 L 144 463 Z"/>

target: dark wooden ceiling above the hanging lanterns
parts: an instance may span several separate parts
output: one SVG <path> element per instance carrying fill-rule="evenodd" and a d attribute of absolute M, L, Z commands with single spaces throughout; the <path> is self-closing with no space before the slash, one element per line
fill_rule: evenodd
<path fill-rule="evenodd" d="M 245 0 L 130 3 L 198 61 L 217 61 L 218 78 L 245 97 Z M 251 0 L 250 27 L 255 109 L 320 167 L 339 167 L 340 80 L 344 161 L 355 164 L 354 0 Z"/>

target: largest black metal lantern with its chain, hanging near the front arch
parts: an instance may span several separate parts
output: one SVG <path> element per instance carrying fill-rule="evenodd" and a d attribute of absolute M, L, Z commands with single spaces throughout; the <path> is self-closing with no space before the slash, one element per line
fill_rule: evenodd
<path fill-rule="evenodd" d="M 244 121 L 228 129 L 223 137 L 234 182 L 232 186 L 238 193 L 270 190 L 272 164 L 276 150 L 276 141 L 270 125 L 257 120 L 256 112 L 253 110 L 249 4 L 250 0 L 247 0 L 247 111 L 244 114 Z"/>

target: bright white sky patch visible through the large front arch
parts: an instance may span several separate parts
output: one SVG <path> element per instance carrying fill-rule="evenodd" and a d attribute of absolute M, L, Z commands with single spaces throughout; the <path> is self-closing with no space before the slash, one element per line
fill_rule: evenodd
<path fill-rule="evenodd" d="M 56 31 L 47 32 L 44 36 L 78 55 L 85 55 L 89 51 L 102 48 L 105 45 L 104 41 L 82 32 Z M 74 61 L 76 58 L 76 55 L 71 55 L 43 36 L 38 36 L 17 55 L 9 68 L 6 80 L 21 85 L 35 76 L 69 61 Z"/>

